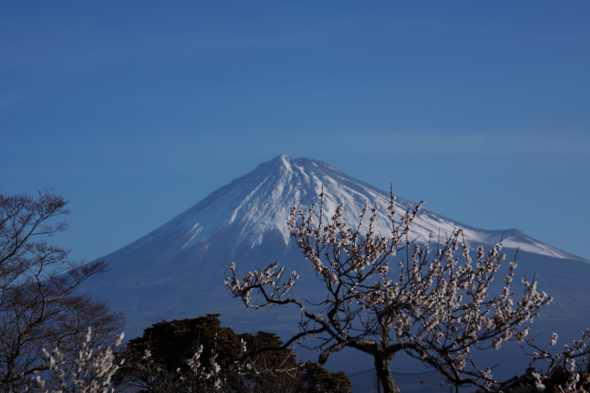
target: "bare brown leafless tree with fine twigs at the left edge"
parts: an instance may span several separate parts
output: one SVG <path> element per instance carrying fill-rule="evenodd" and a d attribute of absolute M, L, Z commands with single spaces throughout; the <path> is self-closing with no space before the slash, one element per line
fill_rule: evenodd
<path fill-rule="evenodd" d="M 27 375 L 48 368 L 44 347 L 77 354 L 79 333 L 93 326 L 99 340 L 122 328 L 121 313 L 106 303 L 76 295 L 76 287 L 106 263 L 67 259 L 69 250 L 45 240 L 67 229 L 68 201 L 53 190 L 28 195 L 0 194 L 0 389 L 16 390 Z M 72 352 L 73 351 L 73 352 Z"/>

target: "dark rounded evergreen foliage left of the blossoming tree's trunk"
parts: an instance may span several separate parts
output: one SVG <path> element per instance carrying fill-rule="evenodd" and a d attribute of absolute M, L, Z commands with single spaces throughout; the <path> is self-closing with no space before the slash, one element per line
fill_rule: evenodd
<path fill-rule="evenodd" d="M 221 366 L 220 375 L 224 379 L 225 392 L 253 392 L 253 393 L 350 393 L 352 386 L 344 372 L 328 372 L 322 366 L 313 362 L 297 364 L 296 355 L 289 349 L 280 349 L 283 341 L 270 332 L 258 331 L 236 334 L 231 328 L 222 327 L 219 314 L 207 314 L 198 318 L 175 319 L 154 323 L 143 331 L 143 336 L 129 341 L 126 353 L 121 356 L 135 359 L 129 364 L 133 374 L 133 365 L 140 362 L 146 349 L 152 354 L 154 363 L 152 369 L 162 368 L 163 374 L 158 378 L 172 378 L 174 388 L 166 388 L 162 393 L 188 391 L 178 384 L 179 379 L 173 377 L 176 370 L 186 378 L 190 384 L 192 373 L 186 361 L 192 358 L 199 348 L 204 347 L 201 356 L 202 366 L 209 368 L 208 359 L 211 350 L 217 356 L 217 363 Z M 254 368 L 248 375 L 239 375 L 234 361 L 244 354 L 241 353 L 241 340 L 244 340 L 247 354 L 254 363 Z M 264 351 L 261 351 L 265 349 Z M 260 351 L 259 353 L 257 353 Z M 124 369 L 124 368 L 123 368 Z M 257 372 L 254 371 L 254 369 Z M 122 370 L 123 371 L 123 370 Z M 289 371 L 289 372 L 286 372 Z M 122 373 L 119 373 L 122 374 Z M 161 388 L 151 388 L 148 377 L 142 375 L 115 375 L 114 379 L 138 378 L 143 380 L 145 391 L 160 393 Z M 139 384 L 142 385 L 142 384 Z M 247 388 L 250 386 L 250 388 Z M 152 390 L 156 390 L 152 392 Z"/>

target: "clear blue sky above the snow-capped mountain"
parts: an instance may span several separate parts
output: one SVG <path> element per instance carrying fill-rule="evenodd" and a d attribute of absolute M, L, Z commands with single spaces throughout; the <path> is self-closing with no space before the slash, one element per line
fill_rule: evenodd
<path fill-rule="evenodd" d="M 0 2 L 0 192 L 87 260 L 278 154 L 590 259 L 590 2 Z"/>

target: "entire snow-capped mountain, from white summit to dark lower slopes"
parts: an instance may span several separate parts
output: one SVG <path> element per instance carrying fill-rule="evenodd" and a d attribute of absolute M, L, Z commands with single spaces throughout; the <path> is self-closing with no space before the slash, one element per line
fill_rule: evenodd
<path fill-rule="evenodd" d="M 332 213 L 345 206 L 345 219 L 358 221 L 363 206 L 381 204 L 376 229 L 390 231 L 386 217 L 389 193 L 353 179 L 323 161 L 278 156 L 214 191 L 191 209 L 179 214 L 136 242 L 107 255 L 110 272 L 91 278 L 83 290 L 124 309 L 128 336 L 160 319 L 189 318 L 221 313 L 224 325 L 237 331 L 296 332 L 296 309 L 245 309 L 224 286 L 224 270 L 235 262 L 246 273 L 280 262 L 301 275 L 296 291 L 313 299 L 322 296 L 314 287 L 309 260 L 290 241 L 287 216 L 293 206 L 317 204 L 324 187 L 324 209 Z M 395 192 L 395 190 L 394 190 Z M 408 200 L 398 197 L 399 207 Z M 331 216 L 331 214 L 330 214 Z M 563 326 L 572 334 L 590 325 L 590 261 L 539 242 L 516 229 L 482 230 L 455 222 L 428 209 L 412 227 L 418 242 L 430 233 L 452 233 L 463 227 L 472 249 L 486 248 L 504 236 L 509 257 L 520 248 L 517 275 L 536 274 L 539 288 L 555 296 L 543 311 L 541 330 Z M 569 333 L 568 333 L 569 334 Z"/>

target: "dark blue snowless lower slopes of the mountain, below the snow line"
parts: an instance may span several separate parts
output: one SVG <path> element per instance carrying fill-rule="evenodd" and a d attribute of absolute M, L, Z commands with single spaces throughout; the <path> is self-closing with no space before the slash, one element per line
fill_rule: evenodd
<path fill-rule="evenodd" d="M 277 245 L 277 237 L 273 239 L 269 236 L 254 249 L 238 248 L 235 253 L 225 256 L 223 253 L 214 257 L 204 256 L 202 249 L 185 250 L 167 257 L 154 257 L 152 253 L 135 254 L 133 263 L 112 263 L 107 275 L 92 278 L 84 290 L 89 290 L 97 298 L 109 300 L 116 309 L 124 309 L 127 332 L 132 336 L 139 335 L 143 328 L 160 319 L 188 318 L 215 312 L 221 313 L 222 321 L 238 331 L 266 329 L 281 331 L 282 334 L 294 333 L 294 323 L 299 319 L 296 309 L 276 308 L 271 314 L 262 309 L 246 309 L 240 300 L 231 298 L 224 285 L 224 273 L 229 272 L 230 261 L 237 263 L 241 273 L 280 262 L 287 266 L 287 271 L 296 270 L 300 274 L 296 294 L 313 302 L 320 300 L 322 288 L 309 260 L 303 258 L 294 242 L 284 247 Z M 515 251 L 503 250 L 508 255 Z M 112 256 L 126 257 L 124 253 Z M 106 259 L 109 260 L 109 256 Z M 538 323 L 535 322 L 538 329 L 568 331 L 576 335 L 582 328 L 590 326 L 588 263 L 522 251 L 517 262 L 517 277 L 526 274 L 530 279 L 535 276 L 539 289 L 555 298 L 543 309 Z M 499 275 L 503 276 L 502 270 Z M 500 279 L 497 281 L 498 285 L 502 283 Z M 517 280 L 513 288 L 520 289 Z"/>

